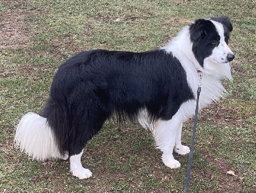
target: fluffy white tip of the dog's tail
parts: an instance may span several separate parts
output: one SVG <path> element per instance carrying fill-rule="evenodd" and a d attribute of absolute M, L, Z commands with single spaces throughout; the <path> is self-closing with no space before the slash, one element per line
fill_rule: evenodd
<path fill-rule="evenodd" d="M 54 134 L 47 123 L 47 118 L 36 113 L 27 113 L 17 125 L 15 145 L 33 159 L 44 161 L 49 158 L 61 158 Z"/>

